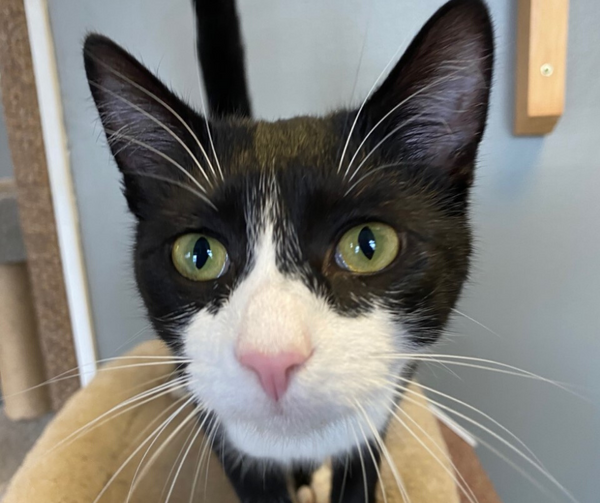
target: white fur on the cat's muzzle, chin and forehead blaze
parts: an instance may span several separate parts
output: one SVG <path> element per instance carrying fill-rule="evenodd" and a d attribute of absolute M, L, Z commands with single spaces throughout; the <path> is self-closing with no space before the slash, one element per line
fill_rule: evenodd
<path fill-rule="evenodd" d="M 402 364 L 384 355 L 408 350 L 407 337 L 384 309 L 340 315 L 302 281 L 284 276 L 268 221 L 254 243 L 252 270 L 229 302 L 216 315 L 200 311 L 186 330 L 191 391 L 242 453 L 286 464 L 321 462 L 352 449 L 361 432 L 371 435 L 357 402 L 371 425 L 385 426 L 390 383 Z M 313 353 L 276 403 L 238 362 L 239 344 L 272 353 L 310 344 Z"/>

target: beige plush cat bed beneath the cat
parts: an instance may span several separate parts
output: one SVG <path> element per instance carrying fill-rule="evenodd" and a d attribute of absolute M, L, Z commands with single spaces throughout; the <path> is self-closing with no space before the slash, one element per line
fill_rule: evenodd
<path fill-rule="evenodd" d="M 166 393 L 131 410 L 118 408 L 128 398 L 167 382 L 173 375 L 168 365 L 130 365 L 160 362 L 147 357 L 166 355 L 161 343 L 150 342 L 139 346 L 127 359 L 104 367 L 48 426 L 11 481 L 3 503 L 162 503 L 167 498 L 170 503 L 236 503 L 212 454 L 209 462 L 208 457 L 202 460 L 198 471 L 204 438 L 196 438 L 188 450 L 195 431 L 192 421 L 175 422 L 157 442 L 147 441 L 140 448 L 148 435 L 177 410 L 175 402 L 182 403 L 181 397 Z M 418 403 L 425 405 L 425 398 L 420 396 Z M 85 428 L 114 407 L 117 409 L 96 421 L 96 427 Z M 438 423 L 427 407 L 406 403 L 403 410 L 418 423 L 418 427 L 411 425 L 418 440 L 394 422 L 386 445 L 408 493 L 407 503 L 499 501 L 467 444 Z M 177 417 L 187 415 L 184 411 Z M 160 448 L 169 437 L 172 440 L 168 446 Z M 184 454 L 185 462 L 181 463 Z M 461 476 L 457 477 L 455 470 Z M 387 501 L 401 503 L 395 477 L 385 462 L 382 477 Z M 469 496 L 460 491 L 457 481 L 470 487 Z M 327 470 L 323 469 L 315 477 L 313 488 L 318 503 L 326 501 L 327 486 Z M 309 500 L 314 497 L 311 495 Z M 384 501 L 381 491 L 378 501 Z"/>

